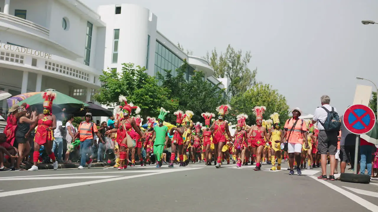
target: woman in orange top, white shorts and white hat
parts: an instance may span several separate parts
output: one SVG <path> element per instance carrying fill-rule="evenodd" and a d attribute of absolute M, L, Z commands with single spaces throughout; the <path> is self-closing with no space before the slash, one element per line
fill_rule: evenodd
<path fill-rule="evenodd" d="M 284 132 L 281 138 L 281 143 L 283 143 L 283 138 L 286 138 L 288 143 L 288 154 L 289 154 L 289 166 L 290 172 L 289 175 L 294 174 L 293 166 L 294 166 L 294 157 L 297 163 L 297 175 L 302 175 L 301 171 L 301 153 L 302 153 L 302 144 L 303 138 L 305 138 L 305 145 L 307 147 L 307 128 L 304 123 L 303 119 L 299 117 L 302 114 L 302 111 L 299 108 L 294 108 L 292 110 L 293 117 L 289 118 L 285 122 Z M 307 147 L 308 148 L 308 147 Z"/>

